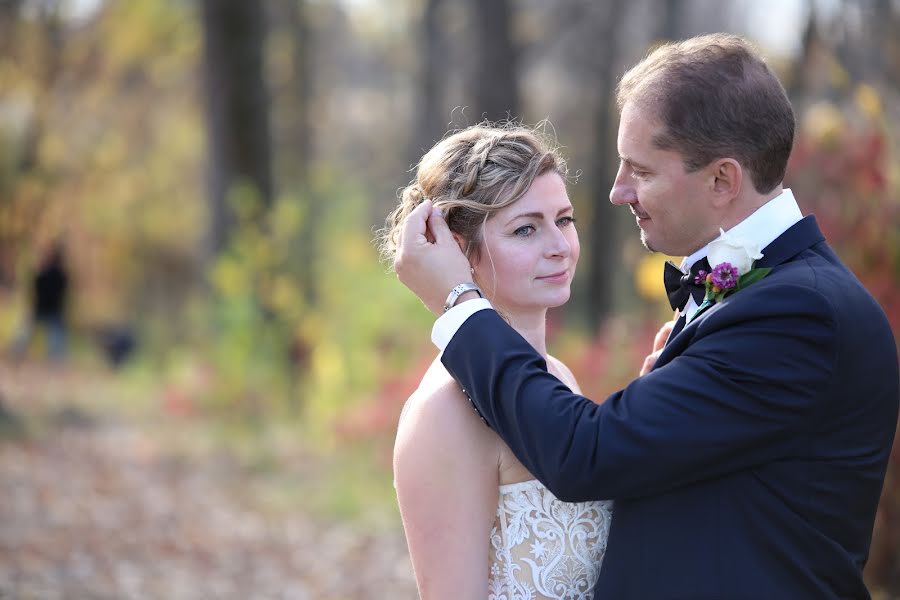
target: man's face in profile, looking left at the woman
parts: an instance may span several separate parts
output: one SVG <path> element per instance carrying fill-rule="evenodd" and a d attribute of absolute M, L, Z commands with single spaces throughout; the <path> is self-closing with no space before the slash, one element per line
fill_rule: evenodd
<path fill-rule="evenodd" d="M 653 143 L 662 132 L 653 112 L 627 102 L 619 123 L 619 172 L 610 202 L 626 205 L 651 251 L 686 256 L 715 233 L 710 201 L 715 178 L 706 169 L 688 173 L 680 153 Z"/>

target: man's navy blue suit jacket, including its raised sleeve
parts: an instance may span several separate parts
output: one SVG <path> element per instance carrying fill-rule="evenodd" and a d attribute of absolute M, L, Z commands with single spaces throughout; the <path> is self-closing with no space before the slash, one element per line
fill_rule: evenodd
<path fill-rule="evenodd" d="M 602 404 L 492 310 L 444 352 L 558 498 L 615 500 L 597 600 L 869 598 L 900 398 L 893 334 L 814 217 L 763 253 L 765 279 L 696 316 Z"/>

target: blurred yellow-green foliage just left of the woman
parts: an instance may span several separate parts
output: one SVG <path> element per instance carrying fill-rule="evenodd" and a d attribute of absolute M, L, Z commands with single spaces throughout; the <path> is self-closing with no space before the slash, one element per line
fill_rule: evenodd
<path fill-rule="evenodd" d="M 278 198 L 262 221 L 251 191 L 231 194 L 237 222 L 209 275 L 204 347 L 215 405 L 302 410 L 325 442 L 348 407 L 408 368 L 431 316 L 378 262 L 365 223 L 369 199 L 328 173 L 316 185 Z M 306 222 L 312 202 L 322 204 L 315 223 Z M 313 237 L 312 257 L 301 255 L 301 233 Z M 304 269 L 312 271 L 315 302 L 300 285 Z"/>

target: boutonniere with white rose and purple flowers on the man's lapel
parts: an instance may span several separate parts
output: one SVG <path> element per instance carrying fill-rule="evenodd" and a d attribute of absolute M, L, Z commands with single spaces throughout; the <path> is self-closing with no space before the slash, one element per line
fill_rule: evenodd
<path fill-rule="evenodd" d="M 772 270 L 768 267 L 753 268 L 756 261 L 763 257 L 759 244 L 729 235 L 723 229 L 719 229 L 719 233 L 719 237 L 709 244 L 707 260 L 712 270 L 705 274 L 701 271 L 698 275 L 704 277 L 703 283 L 706 284 L 706 296 L 698 311 L 756 283 Z"/>

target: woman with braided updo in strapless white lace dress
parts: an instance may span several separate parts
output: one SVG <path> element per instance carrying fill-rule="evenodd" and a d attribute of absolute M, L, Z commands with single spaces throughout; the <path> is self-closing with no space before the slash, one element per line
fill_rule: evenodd
<path fill-rule="evenodd" d="M 432 200 L 481 293 L 579 391 L 545 343 L 547 309 L 569 299 L 579 255 L 566 173 L 556 147 L 534 130 L 467 128 L 425 154 L 380 241 L 392 260 L 404 217 Z M 439 359 L 404 407 L 394 477 L 421 598 L 591 598 L 611 503 L 556 499 L 485 426 Z"/>

